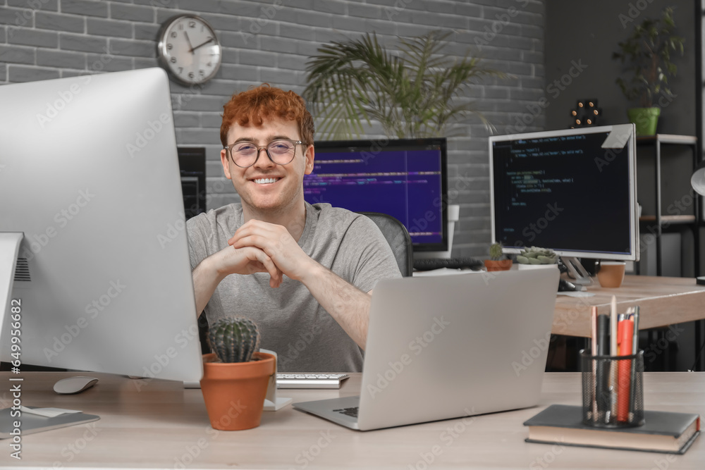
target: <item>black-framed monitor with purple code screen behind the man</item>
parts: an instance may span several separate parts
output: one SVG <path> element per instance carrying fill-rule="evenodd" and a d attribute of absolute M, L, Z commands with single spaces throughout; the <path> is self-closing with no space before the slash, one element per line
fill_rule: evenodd
<path fill-rule="evenodd" d="M 398 218 L 414 252 L 448 249 L 445 138 L 315 142 L 314 169 L 304 178 L 310 204 Z"/>

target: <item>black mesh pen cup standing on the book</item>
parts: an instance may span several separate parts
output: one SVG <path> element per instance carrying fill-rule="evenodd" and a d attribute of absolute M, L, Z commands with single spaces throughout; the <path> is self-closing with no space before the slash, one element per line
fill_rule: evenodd
<path fill-rule="evenodd" d="M 644 424 L 644 351 L 593 356 L 580 351 L 582 422 L 596 428 Z"/>

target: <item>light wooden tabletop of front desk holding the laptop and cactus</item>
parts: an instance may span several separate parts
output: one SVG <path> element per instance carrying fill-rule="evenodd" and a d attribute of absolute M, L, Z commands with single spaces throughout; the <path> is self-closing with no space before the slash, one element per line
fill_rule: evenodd
<path fill-rule="evenodd" d="M 286 407 L 265 412 L 262 426 L 214 431 L 200 390 L 180 383 L 100 378 L 80 395 L 56 395 L 51 386 L 70 373 L 25 373 L 23 404 L 81 409 L 101 416 L 87 425 L 23 436 L 21 461 L 1 445 L 0 466 L 140 467 L 187 469 L 698 469 L 705 438 L 685 455 L 587 449 L 525 443 L 522 422 L 548 404 L 580 404 L 579 373 L 546 373 L 539 407 L 436 421 L 379 431 L 352 431 Z M 9 373 L 0 373 L 8 384 Z M 5 390 L 9 386 L 3 385 Z M 140 390 L 137 390 L 140 385 Z M 357 395 L 360 374 L 341 390 L 289 390 L 295 402 Z M 1 394 L 0 394 L 1 395 Z M 9 406 L 5 392 L 3 407 Z M 646 409 L 705 416 L 705 373 L 644 374 Z M 431 465 L 438 445 L 441 453 Z"/>

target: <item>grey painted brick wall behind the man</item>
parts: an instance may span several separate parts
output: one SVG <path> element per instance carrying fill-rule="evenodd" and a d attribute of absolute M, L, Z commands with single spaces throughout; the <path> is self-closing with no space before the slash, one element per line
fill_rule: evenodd
<path fill-rule="evenodd" d="M 302 92 L 307 58 L 325 42 L 362 32 L 392 44 L 395 35 L 453 30 L 446 54 L 462 57 L 470 48 L 513 75 L 470 93 L 497 132 L 543 129 L 544 116 L 531 105 L 545 95 L 544 9 L 544 0 L 0 0 L 0 84 L 156 66 L 159 25 L 179 13 L 203 16 L 223 44 L 223 66 L 200 89 L 173 84 L 172 95 L 178 144 L 207 148 L 214 208 L 238 200 L 219 158 L 219 113 L 228 97 L 264 81 Z M 470 118 L 454 134 L 448 189 L 460 222 L 453 254 L 484 256 L 488 132 Z"/>

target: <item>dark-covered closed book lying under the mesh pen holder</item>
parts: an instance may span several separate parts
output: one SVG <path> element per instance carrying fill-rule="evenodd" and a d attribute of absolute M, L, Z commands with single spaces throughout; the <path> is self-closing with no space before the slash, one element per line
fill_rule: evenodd
<path fill-rule="evenodd" d="M 529 427 L 527 443 L 685 454 L 700 434 L 700 416 L 644 410 L 642 426 L 596 428 L 582 423 L 582 407 L 552 404 L 524 426 Z"/>

